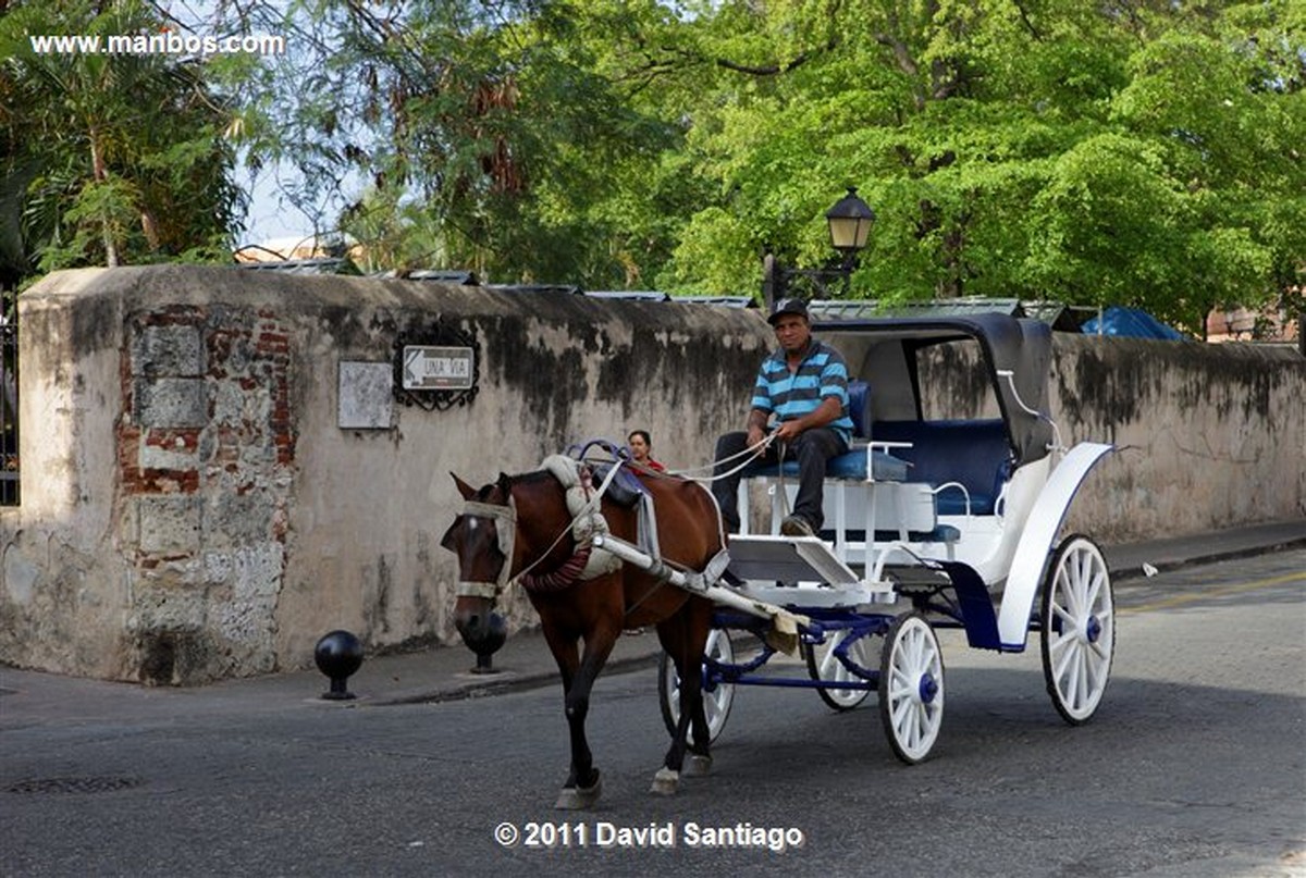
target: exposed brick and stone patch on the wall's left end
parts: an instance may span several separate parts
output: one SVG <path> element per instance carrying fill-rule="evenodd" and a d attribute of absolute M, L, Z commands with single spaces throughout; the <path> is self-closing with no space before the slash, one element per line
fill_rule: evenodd
<path fill-rule="evenodd" d="M 184 349 L 174 348 L 174 340 Z M 215 664 L 187 672 L 195 679 L 226 675 L 222 662 L 264 669 L 276 662 L 274 608 L 293 486 L 287 476 L 298 443 L 293 344 L 289 325 L 272 308 L 251 314 L 170 306 L 128 319 L 118 465 L 123 511 L 135 513 L 140 527 L 124 550 L 142 593 L 153 593 L 158 604 L 137 601 L 142 636 L 178 625 L 212 628 Z M 189 396 L 180 397 L 179 387 Z M 133 393 L 146 396 L 135 400 Z M 188 408 L 170 422 L 178 400 Z M 192 418 L 201 423 L 192 426 Z M 168 496 L 176 500 L 162 499 Z M 193 506 L 180 499 L 185 496 Z M 171 503 L 193 517 L 175 523 Z"/>

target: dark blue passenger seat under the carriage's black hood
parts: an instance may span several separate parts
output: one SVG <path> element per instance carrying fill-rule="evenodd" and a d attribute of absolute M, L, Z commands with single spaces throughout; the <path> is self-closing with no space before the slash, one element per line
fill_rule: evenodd
<path fill-rule="evenodd" d="M 912 466 L 913 482 L 935 487 L 961 482 L 973 515 L 993 515 L 1003 483 L 1011 478 L 1011 444 L 1000 418 L 977 421 L 878 421 L 875 439 L 910 442 L 893 453 Z M 957 490 L 938 494 L 939 515 L 965 515 Z"/>

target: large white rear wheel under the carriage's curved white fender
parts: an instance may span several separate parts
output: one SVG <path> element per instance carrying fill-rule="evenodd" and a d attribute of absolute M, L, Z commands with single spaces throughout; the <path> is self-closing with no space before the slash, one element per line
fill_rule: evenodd
<path fill-rule="evenodd" d="M 1101 550 L 1066 537 L 1043 583 L 1043 678 L 1057 712 L 1071 725 L 1092 719 L 1115 652 L 1115 602 Z"/>

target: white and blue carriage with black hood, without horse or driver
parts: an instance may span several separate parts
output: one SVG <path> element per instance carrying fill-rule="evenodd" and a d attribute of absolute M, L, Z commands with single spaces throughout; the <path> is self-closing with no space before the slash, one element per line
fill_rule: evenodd
<path fill-rule="evenodd" d="M 1063 447 L 1046 414 L 1049 327 L 985 314 L 815 328 L 859 376 L 849 388 L 853 449 L 831 461 L 825 482 L 825 530 L 781 536 L 797 465 L 754 469 L 741 486 L 743 533 L 729 541 L 726 577 L 743 584 L 726 587 L 721 570 L 679 583 L 718 604 L 703 664 L 712 736 L 737 686 L 811 687 L 836 709 L 878 691 L 893 753 L 919 762 L 943 720 L 935 630 L 946 627 L 998 652 L 1024 652 L 1037 631 L 1053 704 L 1067 723 L 1087 721 L 1110 675 L 1111 583 L 1092 540 L 1057 538 L 1111 446 Z M 616 549 L 628 562 L 650 561 Z M 777 617 L 801 643 L 801 679 L 763 673 Z M 731 632 L 756 635 L 747 660 L 737 661 Z M 673 729 L 678 686 L 663 660 Z"/>

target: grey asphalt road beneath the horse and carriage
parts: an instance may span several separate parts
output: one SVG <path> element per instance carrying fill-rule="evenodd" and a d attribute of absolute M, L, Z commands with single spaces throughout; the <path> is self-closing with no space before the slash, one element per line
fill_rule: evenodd
<path fill-rule="evenodd" d="M 1037 642 L 999 656 L 944 632 L 944 728 L 914 767 L 874 696 L 836 715 L 741 689 L 713 776 L 654 797 L 654 674 L 605 678 L 605 797 L 582 815 L 552 810 L 552 689 L 259 711 L 159 692 L 133 716 L 4 721 L 0 874 L 1306 875 L 1306 550 L 1117 601 L 1113 679 L 1081 728 L 1053 711 Z M 717 827 L 748 844 L 713 847 Z"/>

